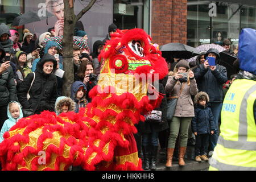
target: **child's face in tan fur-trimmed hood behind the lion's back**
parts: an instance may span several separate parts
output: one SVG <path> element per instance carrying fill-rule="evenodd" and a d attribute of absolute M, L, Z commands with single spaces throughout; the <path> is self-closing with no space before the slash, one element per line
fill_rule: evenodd
<path fill-rule="evenodd" d="M 69 111 L 75 111 L 75 102 L 70 97 L 61 96 L 56 99 L 55 113 L 60 115 L 61 113 L 67 113 Z"/>

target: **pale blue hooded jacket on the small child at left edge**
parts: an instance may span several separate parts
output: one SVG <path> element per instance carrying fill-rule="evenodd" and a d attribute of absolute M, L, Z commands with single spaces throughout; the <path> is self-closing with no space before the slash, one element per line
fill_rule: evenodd
<path fill-rule="evenodd" d="M 11 102 L 15 102 L 15 101 L 11 101 Z M 9 111 L 9 105 L 11 104 L 11 102 L 8 104 L 7 107 L 7 116 L 9 119 L 7 119 L 2 126 L 1 132 L 0 132 L 0 143 L 3 141 L 3 134 L 5 134 L 6 131 L 9 131 L 11 127 L 13 127 L 20 118 L 23 118 L 23 113 L 22 113 L 22 109 L 20 107 L 20 104 L 18 102 L 15 102 L 16 104 L 18 104 L 19 106 L 19 117 L 17 119 L 14 119 L 11 116 L 11 113 Z"/>

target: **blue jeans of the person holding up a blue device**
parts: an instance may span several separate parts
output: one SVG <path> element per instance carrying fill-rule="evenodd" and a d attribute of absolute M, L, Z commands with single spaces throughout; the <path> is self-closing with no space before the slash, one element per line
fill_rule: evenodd
<path fill-rule="evenodd" d="M 210 135 L 209 139 L 209 151 L 213 151 L 218 141 L 218 118 L 220 117 L 222 102 L 210 102 L 210 109 L 214 117 L 215 131 L 213 135 Z M 208 146 L 207 146 L 208 148 Z"/>

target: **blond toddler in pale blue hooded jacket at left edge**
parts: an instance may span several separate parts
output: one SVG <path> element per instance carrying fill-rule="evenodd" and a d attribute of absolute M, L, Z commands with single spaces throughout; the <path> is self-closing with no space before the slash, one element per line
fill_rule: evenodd
<path fill-rule="evenodd" d="M 0 132 L 0 143 L 3 141 L 3 134 L 5 134 L 6 131 L 9 131 L 20 118 L 23 118 L 22 109 L 18 102 L 11 101 L 9 103 L 7 115 L 9 119 L 3 123 L 3 127 Z"/>

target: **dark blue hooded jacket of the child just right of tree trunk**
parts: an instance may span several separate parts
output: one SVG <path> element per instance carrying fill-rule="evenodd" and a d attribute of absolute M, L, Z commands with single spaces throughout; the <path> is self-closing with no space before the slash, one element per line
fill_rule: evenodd
<path fill-rule="evenodd" d="M 76 103 L 75 113 L 79 112 L 80 107 L 86 107 L 86 105 L 88 104 L 88 101 L 85 98 L 86 93 L 84 93 L 84 97 L 82 97 L 80 100 L 76 99 L 76 93 L 77 93 L 77 91 L 79 90 L 80 87 L 83 87 L 84 90 L 87 92 L 85 84 L 81 81 L 75 81 L 72 84 L 72 88 L 71 88 L 71 98 Z"/>

